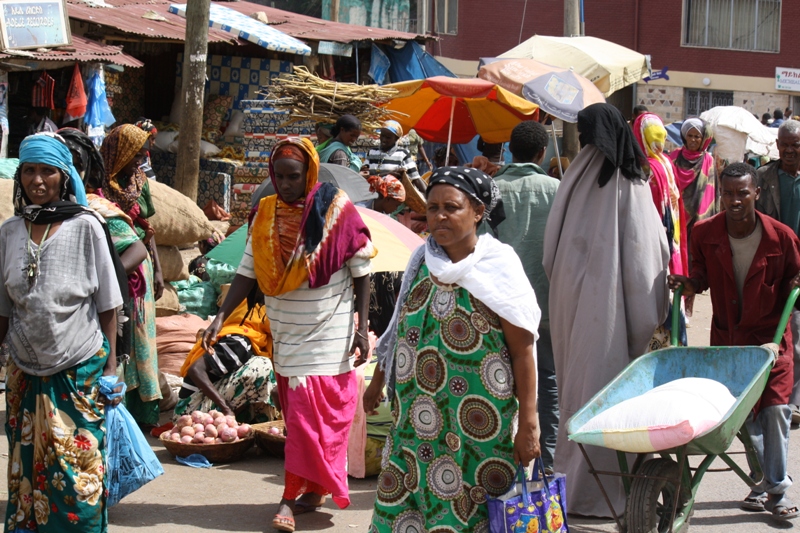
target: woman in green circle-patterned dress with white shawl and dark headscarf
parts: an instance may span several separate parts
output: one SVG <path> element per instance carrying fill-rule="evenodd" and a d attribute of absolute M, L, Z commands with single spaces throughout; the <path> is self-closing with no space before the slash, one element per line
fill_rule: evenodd
<path fill-rule="evenodd" d="M 514 251 L 477 235 L 504 218 L 492 178 L 437 169 L 427 200 L 431 236 L 406 269 L 364 396 L 371 411 L 388 381 L 394 417 L 370 532 L 486 532 L 486 496 L 539 456 L 541 313 Z"/>

